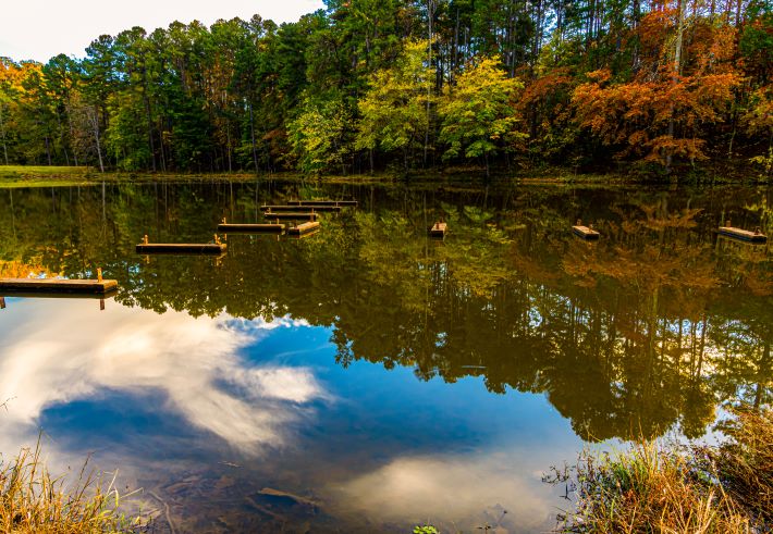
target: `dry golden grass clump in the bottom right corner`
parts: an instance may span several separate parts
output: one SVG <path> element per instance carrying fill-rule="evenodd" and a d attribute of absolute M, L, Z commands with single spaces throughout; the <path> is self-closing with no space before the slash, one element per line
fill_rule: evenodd
<path fill-rule="evenodd" d="M 576 502 L 561 532 L 735 534 L 773 531 L 773 413 L 739 411 L 719 446 L 639 443 L 584 452 L 548 477 Z"/>

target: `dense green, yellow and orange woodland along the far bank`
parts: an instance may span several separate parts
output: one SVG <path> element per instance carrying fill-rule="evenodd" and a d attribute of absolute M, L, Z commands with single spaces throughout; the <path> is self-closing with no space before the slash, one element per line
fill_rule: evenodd
<path fill-rule="evenodd" d="M 770 173 L 764 0 L 329 0 L 0 59 L 0 162 L 158 172 Z"/>

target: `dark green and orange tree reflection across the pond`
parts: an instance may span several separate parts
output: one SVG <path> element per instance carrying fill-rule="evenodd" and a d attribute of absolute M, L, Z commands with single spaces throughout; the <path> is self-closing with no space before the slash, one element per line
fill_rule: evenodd
<path fill-rule="evenodd" d="M 223 216 L 254 222 L 259 203 L 298 195 L 355 195 L 360 208 L 323 215 L 308 239 L 228 236 L 219 260 L 134 253 L 144 234 L 206 240 Z M 0 269 L 78 276 L 99 265 L 124 306 L 332 326 L 343 367 L 544 393 L 587 440 L 675 425 L 696 437 L 724 401 L 771 400 L 769 249 L 712 234 L 731 218 L 773 233 L 770 196 L 157 184 L 16 190 L 11 203 L 5 190 Z M 439 216 L 444 241 L 426 236 Z M 568 232 L 578 218 L 599 243 Z"/>

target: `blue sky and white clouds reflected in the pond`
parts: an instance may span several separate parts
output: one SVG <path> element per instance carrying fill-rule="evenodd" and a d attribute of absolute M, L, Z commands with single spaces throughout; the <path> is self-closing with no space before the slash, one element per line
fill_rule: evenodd
<path fill-rule="evenodd" d="M 243 508 L 267 486 L 319 499 L 321 532 L 401 532 L 428 519 L 513 533 L 552 525 L 554 489 L 540 475 L 578 439 L 543 396 L 491 395 L 478 378 L 419 382 L 410 369 L 367 362 L 344 369 L 329 328 L 291 318 L 194 319 L 112 300 L 102 312 L 88 300 L 8 305 L 0 450 L 34 444 L 42 427 L 54 471 L 96 451 L 100 468 L 146 489 L 145 509 L 150 492 L 177 502 L 181 532 L 244 513 L 251 522 L 238 524 L 271 531 Z M 191 480 L 207 482 L 195 497 L 174 494 Z M 211 486 L 231 480 L 233 502 L 219 496 L 207 508 Z"/>

